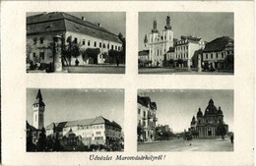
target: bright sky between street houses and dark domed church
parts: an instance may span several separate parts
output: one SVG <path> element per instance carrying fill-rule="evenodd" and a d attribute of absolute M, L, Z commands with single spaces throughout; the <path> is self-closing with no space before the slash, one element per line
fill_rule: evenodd
<path fill-rule="evenodd" d="M 221 106 L 228 131 L 233 131 L 233 90 L 139 89 L 138 94 L 157 103 L 157 124 L 169 125 L 174 133 L 187 131 L 199 107 L 204 114 L 211 98 L 217 108 Z"/>

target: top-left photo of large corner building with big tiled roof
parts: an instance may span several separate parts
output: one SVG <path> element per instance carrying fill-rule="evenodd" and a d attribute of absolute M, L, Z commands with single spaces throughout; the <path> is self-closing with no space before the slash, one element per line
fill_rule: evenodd
<path fill-rule="evenodd" d="M 125 74 L 125 12 L 27 13 L 27 73 Z"/>

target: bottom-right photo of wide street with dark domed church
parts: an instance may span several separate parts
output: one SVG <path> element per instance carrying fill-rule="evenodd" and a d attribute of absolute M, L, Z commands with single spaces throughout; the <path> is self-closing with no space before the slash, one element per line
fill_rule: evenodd
<path fill-rule="evenodd" d="M 233 89 L 138 89 L 138 151 L 233 151 Z"/>

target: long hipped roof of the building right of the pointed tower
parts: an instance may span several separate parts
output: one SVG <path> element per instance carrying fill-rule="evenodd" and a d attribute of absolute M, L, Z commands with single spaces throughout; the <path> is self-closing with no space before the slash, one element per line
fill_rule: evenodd
<path fill-rule="evenodd" d="M 62 131 L 62 129 L 66 128 L 66 127 L 91 126 L 91 125 L 96 125 L 96 124 L 106 124 L 108 126 L 113 126 L 113 127 L 121 129 L 121 126 L 118 125 L 117 123 L 115 123 L 114 121 L 110 122 L 109 120 L 99 116 L 99 117 L 91 118 L 91 119 L 82 119 L 82 120 L 77 120 L 77 121 L 66 121 L 66 122 L 60 122 L 60 123 L 51 123 L 50 125 L 48 125 L 45 128 L 45 130 L 53 130 L 54 125 L 58 131 Z"/>

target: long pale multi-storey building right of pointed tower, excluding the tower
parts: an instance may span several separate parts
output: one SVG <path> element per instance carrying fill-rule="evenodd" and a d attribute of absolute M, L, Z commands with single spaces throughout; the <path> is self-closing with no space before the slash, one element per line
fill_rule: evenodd
<path fill-rule="evenodd" d="M 56 134 L 64 145 L 83 143 L 85 145 L 110 145 L 121 139 L 122 128 L 113 122 L 99 116 L 92 119 L 51 123 L 45 128 L 47 137 Z"/>

